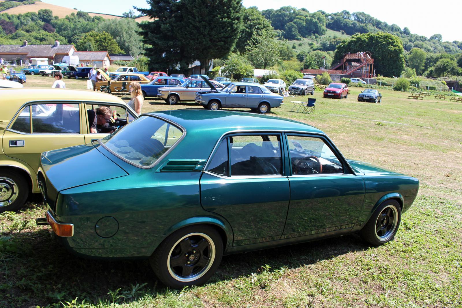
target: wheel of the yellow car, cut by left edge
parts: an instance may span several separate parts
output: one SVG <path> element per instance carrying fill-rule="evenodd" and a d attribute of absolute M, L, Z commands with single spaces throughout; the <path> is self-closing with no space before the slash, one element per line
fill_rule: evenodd
<path fill-rule="evenodd" d="M 15 171 L 0 170 L 0 213 L 17 211 L 28 195 L 29 185 L 24 176 Z"/>

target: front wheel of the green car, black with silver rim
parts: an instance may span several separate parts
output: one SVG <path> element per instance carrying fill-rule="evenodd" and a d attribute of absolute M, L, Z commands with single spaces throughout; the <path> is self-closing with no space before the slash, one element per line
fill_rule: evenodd
<path fill-rule="evenodd" d="M 401 222 L 401 206 L 394 199 L 383 201 L 361 229 L 361 237 L 374 246 L 390 242 Z M 378 230 L 377 230 L 378 228 Z"/>

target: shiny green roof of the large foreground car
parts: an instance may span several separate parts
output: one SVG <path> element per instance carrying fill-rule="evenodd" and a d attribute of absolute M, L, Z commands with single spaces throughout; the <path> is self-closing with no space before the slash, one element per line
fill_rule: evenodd
<path fill-rule="evenodd" d="M 152 112 L 173 121 L 186 129 L 187 134 L 218 138 L 230 131 L 242 130 L 280 130 L 323 133 L 316 127 L 298 121 L 271 115 L 257 115 L 248 112 L 224 110 L 172 110 Z"/>

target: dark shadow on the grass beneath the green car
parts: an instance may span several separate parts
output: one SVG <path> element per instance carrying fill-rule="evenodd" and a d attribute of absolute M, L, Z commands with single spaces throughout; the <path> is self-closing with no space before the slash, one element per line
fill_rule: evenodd
<path fill-rule="evenodd" d="M 0 285 L 4 286 L 0 288 L 0 306 L 47 306 L 72 302 L 77 297 L 79 302 L 85 299 L 95 304 L 131 302 L 169 292 L 154 276 L 147 260 L 83 259 L 68 252 L 46 227 L 9 236 L 18 252 L 0 253 L 0 273 L 4 273 L 0 275 Z M 264 265 L 271 266 L 270 271 L 298 268 L 367 248 L 358 236 L 350 235 L 227 255 L 209 282 L 249 276 Z"/>

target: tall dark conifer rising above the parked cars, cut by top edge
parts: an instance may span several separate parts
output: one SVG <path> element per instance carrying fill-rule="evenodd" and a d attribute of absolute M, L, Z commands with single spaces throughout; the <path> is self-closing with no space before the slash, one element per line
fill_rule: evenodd
<path fill-rule="evenodd" d="M 153 20 L 140 24 L 151 65 L 187 68 L 200 60 L 208 69 L 234 47 L 242 27 L 240 0 L 148 0 L 150 8 L 136 8 Z M 183 25 L 188 25 L 185 29 Z"/>

